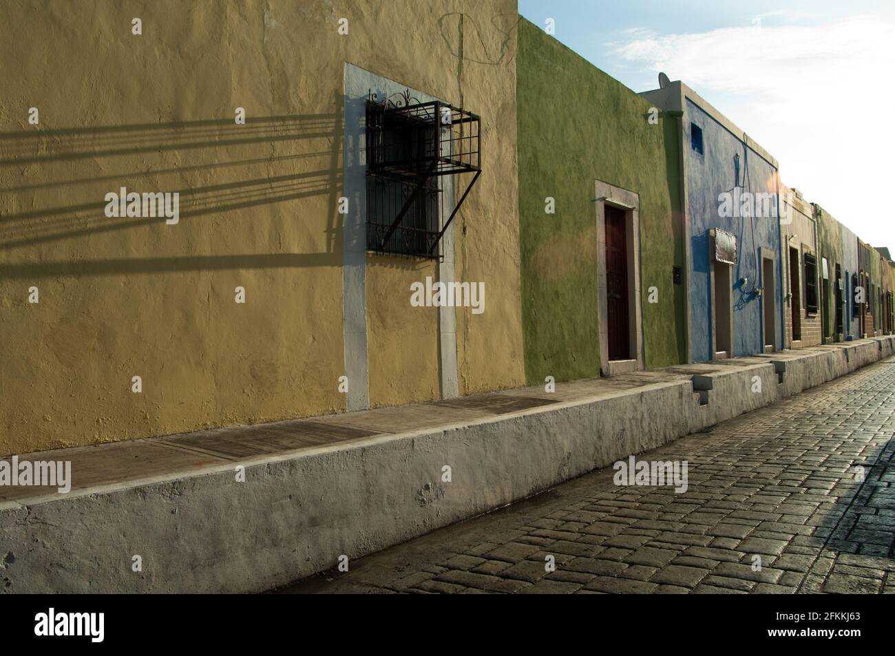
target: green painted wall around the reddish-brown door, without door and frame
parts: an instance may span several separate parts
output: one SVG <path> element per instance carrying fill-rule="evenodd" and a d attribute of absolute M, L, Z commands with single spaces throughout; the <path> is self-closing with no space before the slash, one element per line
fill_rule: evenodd
<path fill-rule="evenodd" d="M 676 119 L 520 19 L 516 64 L 525 376 L 600 375 L 594 180 L 640 196 L 644 363 L 686 358 Z M 545 212 L 545 199 L 556 213 Z M 655 286 L 657 303 L 647 302 Z"/>

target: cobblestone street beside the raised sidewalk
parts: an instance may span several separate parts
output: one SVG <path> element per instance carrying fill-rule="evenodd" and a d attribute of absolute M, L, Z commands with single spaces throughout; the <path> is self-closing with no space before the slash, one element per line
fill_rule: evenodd
<path fill-rule="evenodd" d="M 895 592 L 893 414 L 890 358 L 280 592 Z"/>

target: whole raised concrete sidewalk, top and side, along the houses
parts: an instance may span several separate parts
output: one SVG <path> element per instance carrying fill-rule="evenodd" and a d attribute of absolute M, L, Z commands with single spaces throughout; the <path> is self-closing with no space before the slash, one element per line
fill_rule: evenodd
<path fill-rule="evenodd" d="M 893 349 L 895 337 L 873 337 L 551 393 L 522 388 L 22 455 L 70 461 L 72 491 L 0 488 L 0 589 L 268 589 L 660 447 Z"/>

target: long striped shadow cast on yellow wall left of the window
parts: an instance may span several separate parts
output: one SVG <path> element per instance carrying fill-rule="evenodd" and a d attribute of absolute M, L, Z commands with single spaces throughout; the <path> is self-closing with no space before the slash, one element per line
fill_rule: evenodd
<path fill-rule="evenodd" d="M 0 132 L 0 277 L 340 266 L 341 100 L 334 94 L 331 113 L 247 117 L 245 124 L 209 119 Z M 268 156 L 260 156 L 265 150 Z M 85 175 L 85 169 L 97 170 L 98 175 Z M 166 226 L 165 217 L 107 217 L 106 194 L 122 187 L 128 192 L 177 192 L 180 223 L 206 220 L 209 226 L 237 210 L 323 197 L 326 248 L 277 252 L 282 245 L 272 243 L 254 254 L 159 257 L 157 240 L 142 240 L 142 234 L 135 239 L 132 231 L 152 225 L 173 231 L 180 226 Z M 60 204 L 59 199 L 68 202 Z M 313 207 L 320 208 L 320 200 Z M 313 229 L 319 217 L 302 209 L 303 203 L 296 204 L 292 217 L 285 215 L 288 210 L 279 210 L 276 217 L 243 211 L 242 217 L 258 222 L 276 219 L 278 224 L 294 220 Z M 76 257 L 87 251 L 109 252 L 108 242 L 97 248 L 95 240 L 116 233 L 124 233 L 120 239 L 126 257 Z M 188 234 L 194 239 L 196 231 Z M 196 251 L 192 243 L 187 248 Z M 47 255 L 54 251 L 72 257 L 51 260 Z"/>

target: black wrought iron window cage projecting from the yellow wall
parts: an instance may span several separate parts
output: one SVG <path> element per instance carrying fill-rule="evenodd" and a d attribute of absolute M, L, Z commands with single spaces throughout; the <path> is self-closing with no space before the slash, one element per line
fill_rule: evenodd
<path fill-rule="evenodd" d="M 367 100 L 367 248 L 439 259 L 447 227 L 482 173 L 481 121 L 462 107 Z M 441 180 L 473 174 L 450 215 L 439 224 Z"/>

